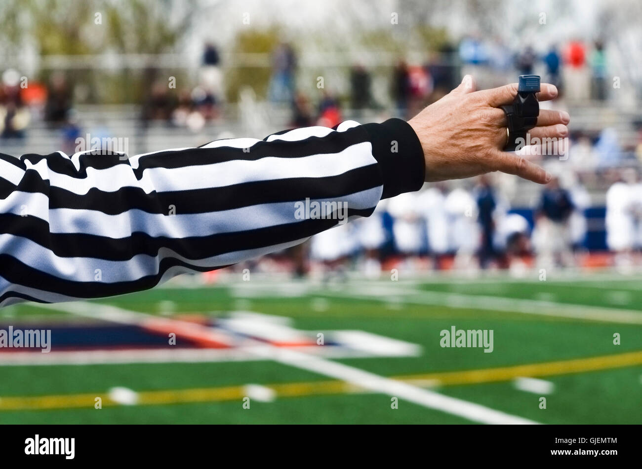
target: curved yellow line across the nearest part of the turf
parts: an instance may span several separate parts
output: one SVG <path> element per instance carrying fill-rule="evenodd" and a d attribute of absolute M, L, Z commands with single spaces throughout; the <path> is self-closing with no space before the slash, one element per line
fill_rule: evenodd
<path fill-rule="evenodd" d="M 448 386 L 454 384 L 479 384 L 510 381 L 517 377 L 553 376 L 610 370 L 625 366 L 642 365 L 642 350 L 616 355 L 579 358 L 571 360 L 531 363 L 528 365 L 504 366 L 483 370 L 440 372 L 429 374 L 401 375 L 394 379 L 420 386 Z M 361 392 L 360 388 L 343 381 L 309 381 L 304 383 L 266 384 L 277 397 L 304 397 L 320 394 L 342 394 Z M 245 386 L 220 388 L 192 388 L 137 393 L 137 404 L 159 405 L 187 402 L 221 402 L 241 400 L 247 391 Z M 26 409 L 67 409 L 73 407 L 94 407 L 96 397 L 101 397 L 103 406 L 117 406 L 117 402 L 99 393 L 62 394 L 30 397 L 0 397 L 0 410 Z"/>

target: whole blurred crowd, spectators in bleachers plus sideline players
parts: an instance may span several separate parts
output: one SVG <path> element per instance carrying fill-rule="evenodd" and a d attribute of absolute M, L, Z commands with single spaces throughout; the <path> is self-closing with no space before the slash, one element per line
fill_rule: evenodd
<path fill-rule="evenodd" d="M 424 57 L 399 60 L 383 71 L 379 67 L 377 76 L 383 74 L 387 81 L 382 99 L 373 92 L 375 71 L 361 63 L 346 67 L 349 86 L 343 94 L 332 86 L 316 86 L 314 92 L 299 86 L 296 49 L 281 42 L 270 55 L 266 100 L 273 109 L 288 110 L 292 128 L 333 127 L 345 119 L 408 119 L 455 88 L 466 73 L 487 86 L 535 73 L 560 91 L 556 101 L 543 107 L 593 106 L 602 115 L 614 90 L 605 50 L 602 40 L 512 50 L 496 38 L 466 36 Z M 160 125 L 187 133 L 212 129 L 216 135 L 216 126 L 232 119 L 224 76 L 220 51 L 205 44 L 191 87 L 184 86 L 185 81 L 171 86 L 171 78 L 169 85 L 165 77 L 150 80 L 138 103 L 141 128 Z M 27 86 L 24 79 L 13 69 L 2 74 L 0 142 L 25 138 L 33 122 L 42 122 L 59 133 L 62 149 L 72 154 L 85 131 L 74 110 L 73 77 L 55 71 L 42 83 L 30 81 Z M 328 276 L 351 268 L 379 276 L 399 265 L 416 270 L 509 268 L 516 274 L 529 267 L 639 265 L 642 122 L 634 113 L 625 124 L 635 138 L 623 139 L 618 128 L 600 123 L 573 128 L 571 122 L 562 154 L 539 161 L 555 177 L 528 201 L 519 199 L 514 183 L 494 174 L 430 184 L 382 202 L 369 218 L 252 264 L 299 275 L 319 270 Z M 597 200 L 594 193 L 601 194 Z"/>

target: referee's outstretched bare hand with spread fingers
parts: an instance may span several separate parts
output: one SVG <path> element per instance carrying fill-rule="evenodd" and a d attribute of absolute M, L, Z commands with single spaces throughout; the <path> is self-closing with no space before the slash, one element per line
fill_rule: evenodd
<path fill-rule="evenodd" d="M 473 77 L 408 121 L 421 141 L 428 182 L 461 179 L 491 171 L 516 174 L 545 184 L 551 176 L 525 156 L 501 149 L 506 144 L 506 117 L 500 106 L 512 103 L 517 83 L 475 91 Z M 557 88 L 542 83 L 539 101 L 557 96 Z M 570 117 L 564 111 L 540 110 L 530 138 L 564 138 Z"/>

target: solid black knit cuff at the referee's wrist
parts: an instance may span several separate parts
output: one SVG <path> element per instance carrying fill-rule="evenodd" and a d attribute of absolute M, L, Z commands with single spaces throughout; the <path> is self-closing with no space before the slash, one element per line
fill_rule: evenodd
<path fill-rule="evenodd" d="M 364 124 L 363 128 L 372 143 L 372 156 L 381 169 L 381 199 L 421 189 L 426 160 L 419 137 L 410 124 L 401 119 L 388 119 L 383 124 Z"/>

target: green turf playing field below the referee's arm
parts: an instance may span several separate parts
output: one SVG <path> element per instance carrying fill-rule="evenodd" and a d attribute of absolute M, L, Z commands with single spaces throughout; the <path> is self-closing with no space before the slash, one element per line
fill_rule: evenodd
<path fill-rule="evenodd" d="M 357 381 L 363 371 L 394 378 L 412 388 L 408 392 L 417 393 L 419 401 L 435 393 L 457 400 L 422 404 L 398 397 L 392 408 L 385 384 L 373 384 L 379 392 L 363 389 L 333 372 L 274 359 L 12 365 L 0 366 L 0 422 L 465 424 L 496 413 L 542 424 L 640 424 L 641 283 L 639 277 L 600 275 L 548 281 L 352 280 L 330 286 L 270 279 L 207 288 L 173 284 L 99 303 L 174 319 L 256 311 L 289 317 L 292 327 L 305 331 L 365 331 L 417 344 L 417 356 L 325 357 L 323 366 L 347 365 L 342 370 Z M 83 307 L 92 310 L 89 304 Z M 0 310 L 0 323 L 76 320 L 60 308 L 13 306 Z M 440 331 L 453 326 L 492 330 L 492 352 L 441 347 Z M 614 344 L 614 334 L 620 345 Z M 247 409 L 250 384 L 272 395 L 250 397 Z M 137 403 L 110 400 L 108 390 L 115 386 L 134 391 Z M 101 409 L 94 408 L 98 396 Z M 479 406 L 469 409 L 469 403 Z M 451 405 L 464 410 L 453 412 Z"/>

